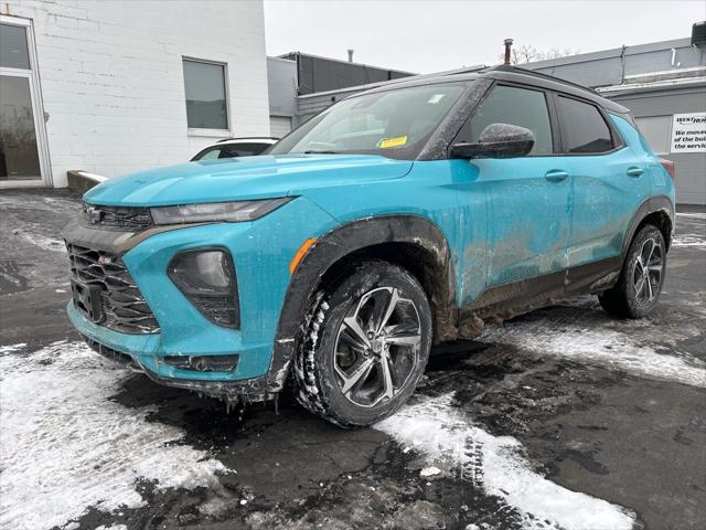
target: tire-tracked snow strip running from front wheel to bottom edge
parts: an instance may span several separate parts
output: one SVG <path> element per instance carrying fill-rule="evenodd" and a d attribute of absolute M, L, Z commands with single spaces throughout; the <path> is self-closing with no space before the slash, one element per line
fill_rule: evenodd
<path fill-rule="evenodd" d="M 510 436 L 493 436 L 473 425 L 451 406 L 449 394 L 407 405 L 375 428 L 413 446 L 442 467 L 459 468 L 463 478 L 522 512 L 523 528 L 633 527 L 634 516 L 629 510 L 566 489 L 534 471 L 522 454 L 520 442 Z"/>

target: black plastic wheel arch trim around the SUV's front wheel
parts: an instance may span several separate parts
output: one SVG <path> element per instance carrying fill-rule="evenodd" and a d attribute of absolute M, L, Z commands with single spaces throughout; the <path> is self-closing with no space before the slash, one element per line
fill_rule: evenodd
<path fill-rule="evenodd" d="M 321 286 L 340 282 L 356 263 L 368 258 L 389 261 L 417 277 L 431 306 L 435 340 L 449 328 L 456 328 L 451 253 L 446 236 L 434 222 L 420 215 L 396 214 L 346 223 L 319 237 L 289 280 L 268 374 L 279 389 L 308 305 Z"/>

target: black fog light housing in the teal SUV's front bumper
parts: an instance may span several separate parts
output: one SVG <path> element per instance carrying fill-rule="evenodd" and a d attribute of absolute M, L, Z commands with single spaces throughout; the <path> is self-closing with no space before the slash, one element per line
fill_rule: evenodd
<path fill-rule="evenodd" d="M 179 290 L 213 324 L 240 327 L 235 267 L 223 248 L 200 248 L 176 254 L 168 275 Z"/>

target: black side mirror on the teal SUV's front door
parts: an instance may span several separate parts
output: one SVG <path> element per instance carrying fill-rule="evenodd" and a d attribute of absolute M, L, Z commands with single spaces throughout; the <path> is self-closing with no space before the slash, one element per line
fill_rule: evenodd
<path fill-rule="evenodd" d="M 474 144 L 454 144 L 451 158 L 513 158 L 524 157 L 534 147 L 530 129 L 509 124 L 491 124 Z"/>

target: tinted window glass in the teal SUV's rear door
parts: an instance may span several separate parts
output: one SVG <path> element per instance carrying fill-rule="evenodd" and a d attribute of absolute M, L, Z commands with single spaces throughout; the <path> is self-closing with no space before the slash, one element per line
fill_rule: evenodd
<path fill-rule="evenodd" d="M 568 97 L 558 97 L 561 141 L 565 152 L 606 152 L 613 148 L 610 129 L 598 108 Z"/>

